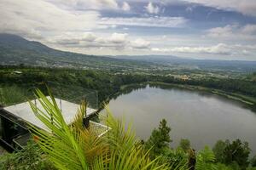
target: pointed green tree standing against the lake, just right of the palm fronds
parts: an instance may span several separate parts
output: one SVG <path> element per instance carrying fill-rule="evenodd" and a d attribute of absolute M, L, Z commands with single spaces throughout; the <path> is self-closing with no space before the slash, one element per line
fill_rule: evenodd
<path fill-rule="evenodd" d="M 172 142 L 170 137 L 171 127 L 167 126 L 166 119 L 160 121 L 158 129 L 153 130 L 151 136 L 146 142 L 146 148 L 151 149 L 151 156 L 159 156 L 164 149 L 169 148 L 169 144 Z"/>

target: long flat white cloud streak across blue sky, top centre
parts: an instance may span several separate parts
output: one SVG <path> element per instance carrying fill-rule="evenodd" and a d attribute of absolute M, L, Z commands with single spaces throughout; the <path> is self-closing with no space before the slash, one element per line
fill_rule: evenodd
<path fill-rule="evenodd" d="M 100 25 L 109 26 L 148 26 L 148 27 L 183 27 L 187 20 L 183 17 L 148 17 L 148 18 L 102 18 Z"/>

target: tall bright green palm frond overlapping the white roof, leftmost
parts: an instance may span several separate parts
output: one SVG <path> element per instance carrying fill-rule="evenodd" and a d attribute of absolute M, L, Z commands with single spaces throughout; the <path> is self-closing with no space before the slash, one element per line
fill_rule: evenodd
<path fill-rule="evenodd" d="M 54 161 L 58 168 L 88 169 L 83 150 L 64 121 L 55 98 L 49 93 L 50 99 L 48 99 L 40 90 L 36 90 L 36 94 L 44 111 L 39 110 L 36 105 L 30 102 L 32 111 L 52 132 L 46 133 L 37 127 L 32 127 L 32 132 L 42 137 L 38 144 L 44 152 L 49 154 L 50 160 Z"/>

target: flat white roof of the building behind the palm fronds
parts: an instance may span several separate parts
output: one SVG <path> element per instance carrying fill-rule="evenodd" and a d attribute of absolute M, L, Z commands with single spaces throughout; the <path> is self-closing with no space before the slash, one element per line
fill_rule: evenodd
<path fill-rule="evenodd" d="M 49 97 L 47 98 L 50 99 Z M 57 98 L 55 98 L 55 101 L 59 106 L 59 108 L 61 109 L 62 116 L 64 117 L 65 122 L 67 122 L 67 124 L 72 123 L 73 118 L 76 115 L 80 105 L 71 103 L 63 99 L 57 99 Z M 38 101 L 38 99 L 34 99 L 32 100 L 32 102 L 37 105 L 38 109 L 44 111 L 43 106 L 40 105 L 40 102 Z M 46 131 L 49 131 L 48 127 L 46 127 L 44 123 L 41 122 L 37 116 L 34 115 L 28 102 L 24 102 L 18 105 L 11 105 L 8 107 L 4 107 L 3 109 L 5 111 L 9 111 L 13 115 L 19 117 L 20 119 L 26 122 L 30 122 L 37 127 L 40 127 Z M 86 110 L 87 116 L 94 112 L 96 112 L 95 109 L 91 109 L 87 107 L 87 110 Z"/>

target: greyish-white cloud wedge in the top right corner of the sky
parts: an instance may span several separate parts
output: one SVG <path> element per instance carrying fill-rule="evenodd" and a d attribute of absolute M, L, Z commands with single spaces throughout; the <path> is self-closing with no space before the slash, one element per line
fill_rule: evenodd
<path fill-rule="evenodd" d="M 201 3 L 206 6 L 236 10 L 242 14 L 256 16 L 255 0 L 183 0 L 190 3 Z"/>

